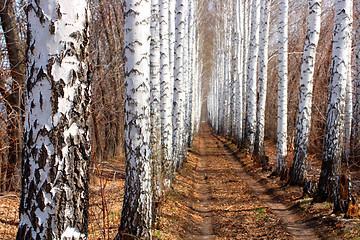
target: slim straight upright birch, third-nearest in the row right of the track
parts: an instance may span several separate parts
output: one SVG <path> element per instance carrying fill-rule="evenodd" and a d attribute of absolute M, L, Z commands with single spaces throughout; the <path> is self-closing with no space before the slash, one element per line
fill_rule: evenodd
<path fill-rule="evenodd" d="M 287 91 L 288 91 L 288 0 L 279 4 L 279 70 L 278 120 L 275 174 L 285 177 L 287 171 Z"/>

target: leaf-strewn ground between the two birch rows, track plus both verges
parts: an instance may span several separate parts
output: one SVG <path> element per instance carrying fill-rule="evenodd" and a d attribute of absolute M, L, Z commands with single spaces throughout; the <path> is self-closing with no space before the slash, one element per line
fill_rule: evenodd
<path fill-rule="evenodd" d="M 275 148 L 266 152 L 274 165 Z M 155 239 L 360 239 L 360 220 L 269 177 L 244 151 L 202 125 L 162 204 Z M 358 189 L 357 189 L 358 190 Z"/>

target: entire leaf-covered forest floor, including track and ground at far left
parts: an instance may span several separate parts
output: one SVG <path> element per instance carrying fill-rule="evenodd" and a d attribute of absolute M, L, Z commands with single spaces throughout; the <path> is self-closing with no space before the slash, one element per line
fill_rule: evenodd
<path fill-rule="evenodd" d="M 302 198 L 302 188 L 270 178 L 271 172 L 261 171 L 245 151 L 208 125 L 200 129 L 161 205 L 154 239 L 360 239 L 360 220 L 335 216 L 330 203 Z M 274 165 L 274 145 L 268 143 L 266 152 Z M 116 235 L 124 168 L 124 156 L 90 168 L 89 239 Z M 18 196 L 0 195 L 0 239 L 15 239 Z"/>

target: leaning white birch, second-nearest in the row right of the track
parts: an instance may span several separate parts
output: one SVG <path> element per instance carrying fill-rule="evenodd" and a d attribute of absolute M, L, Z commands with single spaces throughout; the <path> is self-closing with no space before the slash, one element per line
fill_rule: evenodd
<path fill-rule="evenodd" d="M 292 185 L 303 185 L 306 180 L 311 124 L 311 107 L 313 94 L 313 76 L 316 48 L 320 37 L 321 1 L 308 2 L 308 28 L 301 64 L 299 89 L 299 110 L 297 115 L 294 161 L 290 171 L 289 182 Z"/>

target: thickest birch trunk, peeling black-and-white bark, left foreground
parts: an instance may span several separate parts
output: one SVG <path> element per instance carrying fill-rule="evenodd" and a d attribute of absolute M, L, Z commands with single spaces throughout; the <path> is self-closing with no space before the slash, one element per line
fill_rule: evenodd
<path fill-rule="evenodd" d="M 87 239 L 88 3 L 29 1 L 17 239 Z"/>

